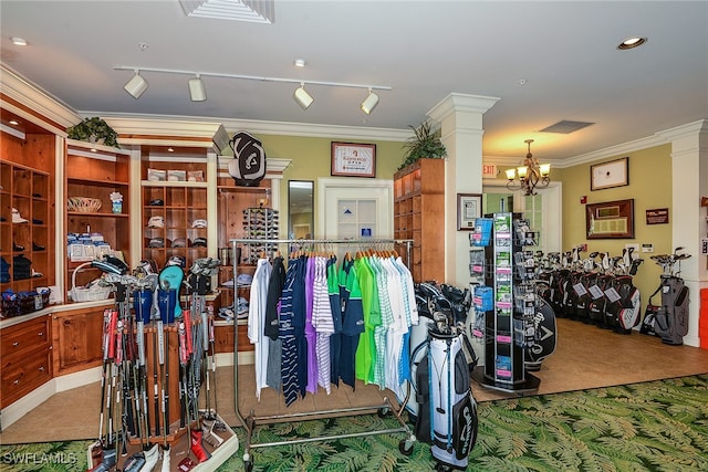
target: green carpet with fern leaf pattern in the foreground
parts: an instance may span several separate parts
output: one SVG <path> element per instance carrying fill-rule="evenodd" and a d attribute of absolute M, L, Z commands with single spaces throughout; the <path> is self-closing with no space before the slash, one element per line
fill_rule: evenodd
<path fill-rule="evenodd" d="M 477 387 L 479 388 L 479 387 Z M 469 471 L 708 471 L 708 375 L 478 405 Z M 256 442 L 395 428 L 376 415 L 257 428 Z M 219 469 L 242 470 L 241 450 Z M 426 471 L 399 434 L 253 449 L 253 471 Z M 88 441 L 0 447 L 3 471 L 83 471 Z"/>

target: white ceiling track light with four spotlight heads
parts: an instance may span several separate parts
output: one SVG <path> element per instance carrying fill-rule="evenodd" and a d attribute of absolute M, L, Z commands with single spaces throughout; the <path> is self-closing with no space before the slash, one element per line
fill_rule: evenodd
<path fill-rule="evenodd" d="M 125 84 L 125 90 L 127 93 L 133 95 L 135 98 L 139 98 L 139 96 L 147 90 L 147 81 L 140 76 L 140 72 L 150 72 L 150 73 L 159 73 L 159 74 L 183 74 L 183 75 L 191 75 L 194 78 L 189 80 L 189 96 L 192 102 L 202 102 L 207 99 L 207 93 L 204 85 L 204 81 L 201 77 L 210 76 L 218 78 L 237 78 L 243 81 L 258 81 L 258 82 L 280 82 L 280 83 L 290 83 L 290 84 L 300 84 L 298 88 L 292 94 L 293 99 L 302 107 L 302 109 L 308 109 L 314 98 L 308 91 L 305 91 L 305 81 L 301 78 L 287 78 L 287 77 L 268 77 L 268 76 L 259 76 L 259 75 L 241 75 L 241 74 L 226 74 L 220 72 L 205 72 L 205 71 L 185 71 L 185 70 L 175 70 L 175 69 L 157 69 L 157 67 L 135 67 L 129 65 L 114 65 L 113 69 L 115 71 L 135 71 L 135 76 Z M 368 88 L 368 95 L 360 107 L 362 112 L 365 114 L 369 114 L 374 111 L 376 105 L 378 105 L 378 95 L 374 91 L 391 91 L 393 87 L 388 85 L 365 85 L 365 84 L 352 84 L 346 82 L 327 82 L 327 81 L 306 81 L 308 85 L 322 85 L 329 87 L 344 87 L 344 88 Z"/>

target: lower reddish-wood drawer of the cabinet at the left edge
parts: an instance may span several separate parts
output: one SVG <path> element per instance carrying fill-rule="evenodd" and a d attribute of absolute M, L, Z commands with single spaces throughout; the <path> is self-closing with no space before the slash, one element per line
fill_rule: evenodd
<path fill-rule="evenodd" d="M 4 408 L 23 395 L 34 390 L 52 378 L 51 350 L 40 350 L 29 357 L 2 360 L 2 398 Z"/>

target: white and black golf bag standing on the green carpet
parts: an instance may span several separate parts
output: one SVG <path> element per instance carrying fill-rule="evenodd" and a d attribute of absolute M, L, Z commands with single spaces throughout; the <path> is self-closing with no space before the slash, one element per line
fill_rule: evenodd
<path fill-rule="evenodd" d="M 477 402 L 470 388 L 470 371 L 456 329 L 428 331 L 428 354 L 416 370 L 419 415 L 415 434 L 431 444 L 437 470 L 465 470 L 477 441 Z"/>

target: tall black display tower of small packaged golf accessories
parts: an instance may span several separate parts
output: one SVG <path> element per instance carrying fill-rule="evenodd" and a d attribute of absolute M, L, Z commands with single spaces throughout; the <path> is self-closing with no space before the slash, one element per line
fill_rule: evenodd
<path fill-rule="evenodd" d="M 483 387 L 509 392 L 533 391 L 541 380 L 527 373 L 525 349 L 534 343 L 534 245 L 529 223 L 520 213 L 486 216 L 491 220 L 485 247 L 485 284 L 493 289 L 493 303 L 485 311 L 485 365 L 472 377 Z"/>

